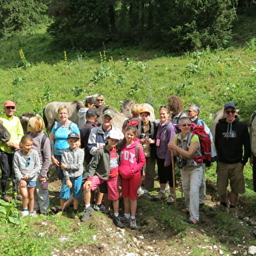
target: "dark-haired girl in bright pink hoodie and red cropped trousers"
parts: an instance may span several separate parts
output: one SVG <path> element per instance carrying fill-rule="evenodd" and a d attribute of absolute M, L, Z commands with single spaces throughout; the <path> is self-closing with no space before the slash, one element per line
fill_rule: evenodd
<path fill-rule="evenodd" d="M 123 223 L 130 223 L 131 229 L 137 229 L 135 214 L 137 209 L 137 189 L 141 183 L 141 168 L 145 165 L 145 154 L 139 145 L 137 128 L 127 126 L 121 142 L 121 174 L 122 197 L 124 199 Z M 139 147 L 136 156 L 136 147 Z"/>

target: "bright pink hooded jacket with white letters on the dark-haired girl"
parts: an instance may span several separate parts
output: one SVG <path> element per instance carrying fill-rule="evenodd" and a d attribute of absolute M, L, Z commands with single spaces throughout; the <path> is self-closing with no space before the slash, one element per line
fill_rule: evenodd
<path fill-rule="evenodd" d="M 121 150 L 119 173 L 122 178 L 132 178 L 134 175 L 137 175 L 146 164 L 145 154 L 140 147 L 138 155 L 136 156 L 136 145 L 139 145 L 139 139 L 137 138 L 135 138 L 134 143 L 132 143 L 130 147 L 124 146 Z"/>

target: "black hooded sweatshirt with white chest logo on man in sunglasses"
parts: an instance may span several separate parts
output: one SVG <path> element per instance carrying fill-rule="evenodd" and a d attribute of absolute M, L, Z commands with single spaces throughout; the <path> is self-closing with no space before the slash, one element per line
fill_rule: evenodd
<path fill-rule="evenodd" d="M 245 165 L 251 155 L 248 127 L 238 117 L 231 123 L 220 119 L 216 124 L 215 144 L 218 160 L 226 164 Z"/>

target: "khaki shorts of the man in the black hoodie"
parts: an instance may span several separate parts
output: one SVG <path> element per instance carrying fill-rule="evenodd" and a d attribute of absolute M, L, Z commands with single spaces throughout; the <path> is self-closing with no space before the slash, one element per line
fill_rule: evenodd
<path fill-rule="evenodd" d="M 246 192 L 243 170 L 244 165 L 242 163 L 217 163 L 217 189 L 219 195 L 224 195 L 227 192 L 229 184 L 231 191 L 234 193 Z"/>

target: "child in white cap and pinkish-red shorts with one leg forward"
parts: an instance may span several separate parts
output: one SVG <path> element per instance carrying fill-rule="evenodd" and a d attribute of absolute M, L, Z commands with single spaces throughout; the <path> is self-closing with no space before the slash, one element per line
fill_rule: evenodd
<path fill-rule="evenodd" d="M 106 181 L 108 199 L 113 201 L 113 223 L 117 227 L 123 228 L 124 225 L 119 218 L 119 156 L 116 149 L 120 135 L 115 130 L 111 130 L 106 139 L 106 145 L 96 152 L 92 162 L 89 164 L 88 171 L 84 175 L 84 178 L 86 178 L 83 184 L 85 211 L 81 221 L 87 221 L 92 212 L 94 212 L 90 206 L 91 190 L 94 191 L 102 182 Z"/>

